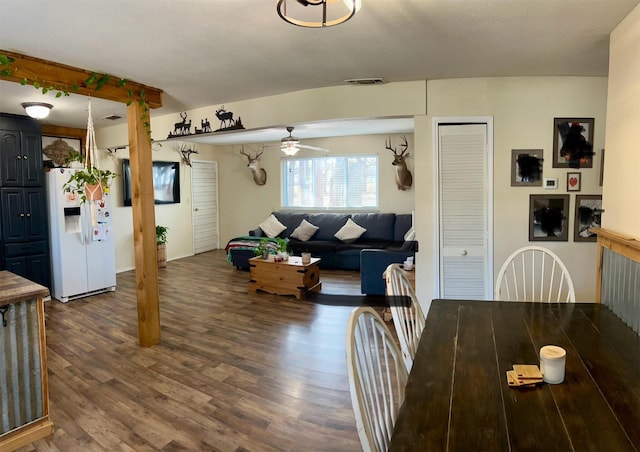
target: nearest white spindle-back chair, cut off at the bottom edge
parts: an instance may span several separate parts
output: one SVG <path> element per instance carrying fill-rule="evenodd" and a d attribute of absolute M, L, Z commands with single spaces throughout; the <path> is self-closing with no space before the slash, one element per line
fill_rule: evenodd
<path fill-rule="evenodd" d="M 408 372 L 382 318 L 356 308 L 347 323 L 347 369 L 356 428 L 364 451 L 386 451 L 404 401 Z"/>

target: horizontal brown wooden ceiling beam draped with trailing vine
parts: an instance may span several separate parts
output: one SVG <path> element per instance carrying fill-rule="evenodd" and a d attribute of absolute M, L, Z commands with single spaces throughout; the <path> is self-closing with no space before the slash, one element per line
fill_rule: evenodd
<path fill-rule="evenodd" d="M 53 87 L 53 91 L 82 94 L 125 104 L 138 99 L 140 93 L 144 92 L 144 99 L 149 108 L 162 107 L 162 90 L 158 88 L 130 80 L 127 80 L 123 86 L 119 86 L 120 78 L 116 76 L 111 76 L 108 82 L 97 88 L 95 83 L 87 84 L 87 81 L 96 74 L 94 72 L 1 49 L 0 54 L 14 60 L 11 65 L 0 68 L 10 69 L 11 72 L 10 74 L 0 73 L 0 79 L 3 80 L 21 83 L 23 79 L 27 79 L 30 85 L 37 82 L 44 88 Z M 97 78 L 100 78 L 105 74 L 97 75 Z M 130 93 L 133 93 L 133 99 Z"/>

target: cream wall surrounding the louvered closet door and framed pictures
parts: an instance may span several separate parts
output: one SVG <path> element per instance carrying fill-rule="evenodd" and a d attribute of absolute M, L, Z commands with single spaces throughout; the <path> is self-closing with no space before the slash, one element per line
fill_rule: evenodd
<path fill-rule="evenodd" d="M 600 149 L 604 147 L 607 79 L 602 77 L 506 77 L 432 80 L 427 84 L 427 115 L 416 119 L 416 224 L 420 252 L 416 261 L 418 295 L 433 298 L 435 178 L 432 118 L 493 116 L 494 118 L 494 272 L 506 257 L 529 244 L 530 194 L 566 194 L 569 169 L 552 168 L 554 117 L 595 118 L 593 168 L 580 169 L 579 194 L 600 194 Z M 543 177 L 558 178 L 558 190 L 511 187 L 511 150 L 543 149 Z M 575 192 L 572 192 L 575 193 Z M 565 262 L 579 301 L 595 300 L 596 245 L 573 242 L 575 194 L 570 197 L 569 241 L 535 242 L 556 252 Z"/>

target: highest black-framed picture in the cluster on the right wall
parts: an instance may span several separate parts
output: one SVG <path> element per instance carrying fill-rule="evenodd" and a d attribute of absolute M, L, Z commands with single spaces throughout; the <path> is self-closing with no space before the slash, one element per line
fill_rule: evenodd
<path fill-rule="evenodd" d="M 553 168 L 593 168 L 593 118 L 553 119 Z"/>

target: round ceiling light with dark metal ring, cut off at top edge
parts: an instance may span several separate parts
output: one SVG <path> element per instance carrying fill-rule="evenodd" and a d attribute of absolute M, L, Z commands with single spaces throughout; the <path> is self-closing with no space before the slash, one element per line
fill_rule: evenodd
<path fill-rule="evenodd" d="M 324 28 L 348 21 L 360 6 L 361 0 L 278 0 L 277 10 L 290 24 Z"/>

